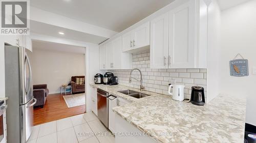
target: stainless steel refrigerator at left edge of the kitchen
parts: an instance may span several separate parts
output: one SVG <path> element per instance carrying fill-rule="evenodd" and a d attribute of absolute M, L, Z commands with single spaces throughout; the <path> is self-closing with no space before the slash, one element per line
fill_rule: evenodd
<path fill-rule="evenodd" d="M 29 50 L 5 43 L 5 92 L 9 97 L 6 111 L 7 142 L 24 143 L 33 126 L 32 73 Z"/>

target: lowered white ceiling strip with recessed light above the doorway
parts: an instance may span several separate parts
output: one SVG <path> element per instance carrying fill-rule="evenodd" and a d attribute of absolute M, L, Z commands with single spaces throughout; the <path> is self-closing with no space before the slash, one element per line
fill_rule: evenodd
<path fill-rule="evenodd" d="M 50 25 L 46 23 L 41 23 L 33 20 L 30 20 L 30 29 L 32 33 L 38 33 L 38 34 L 83 41 L 83 42 L 90 42 L 94 44 L 99 44 L 102 41 L 107 39 L 105 37 L 82 33 L 82 32 L 70 30 L 67 28 Z M 59 32 L 65 33 L 65 35 L 60 35 L 58 34 Z"/>

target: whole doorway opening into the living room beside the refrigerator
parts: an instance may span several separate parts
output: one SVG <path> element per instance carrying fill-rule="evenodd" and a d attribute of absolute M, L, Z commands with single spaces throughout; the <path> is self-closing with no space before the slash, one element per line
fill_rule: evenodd
<path fill-rule="evenodd" d="M 39 125 L 86 111 L 86 48 L 32 40 L 34 123 Z M 39 91 L 42 91 L 39 93 Z"/>

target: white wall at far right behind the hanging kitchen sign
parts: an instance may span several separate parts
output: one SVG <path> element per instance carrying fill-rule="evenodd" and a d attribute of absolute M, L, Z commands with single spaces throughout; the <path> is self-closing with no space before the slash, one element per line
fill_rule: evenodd
<path fill-rule="evenodd" d="M 256 126 L 256 0 L 222 11 L 220 50 L 220 91 L 234 96 L 247 96 L 246 122 Z M 229 75 L 229 61 L 241 53 L 249 63 L 249 76 Z"/>

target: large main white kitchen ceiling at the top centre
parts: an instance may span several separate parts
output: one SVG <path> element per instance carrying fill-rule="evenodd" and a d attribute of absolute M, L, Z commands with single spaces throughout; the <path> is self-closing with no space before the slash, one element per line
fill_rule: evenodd
<path fill-rule="evenodd" d="M 175 0 L 33 0 L 30 4 L 42 10 L 121 32 L 173 1 Z"/>

